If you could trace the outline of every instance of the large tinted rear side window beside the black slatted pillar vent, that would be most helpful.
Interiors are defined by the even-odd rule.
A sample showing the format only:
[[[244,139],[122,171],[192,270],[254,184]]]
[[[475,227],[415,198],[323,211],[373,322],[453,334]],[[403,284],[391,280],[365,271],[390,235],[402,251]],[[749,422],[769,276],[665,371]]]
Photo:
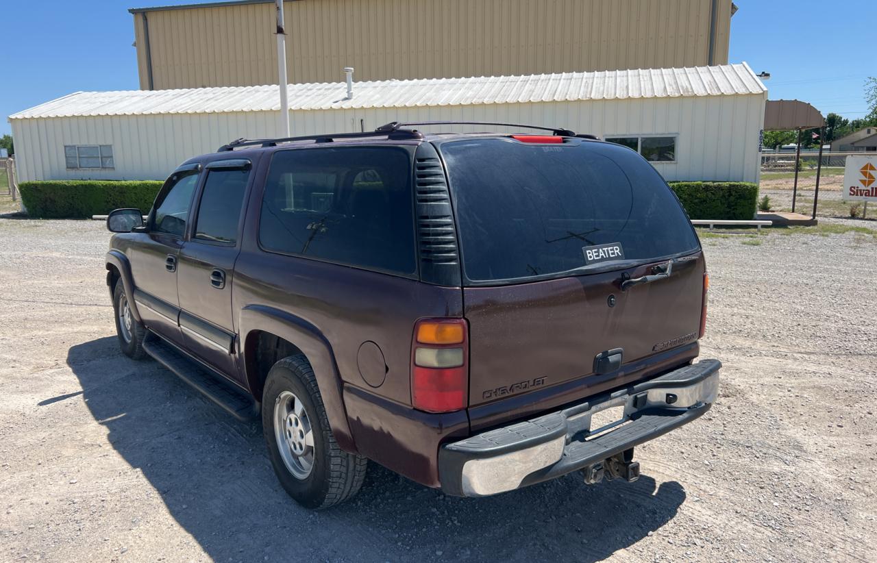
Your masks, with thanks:
[[[262,201],[266,250],[413,274],[410,155],[394,147],[278,151]]]

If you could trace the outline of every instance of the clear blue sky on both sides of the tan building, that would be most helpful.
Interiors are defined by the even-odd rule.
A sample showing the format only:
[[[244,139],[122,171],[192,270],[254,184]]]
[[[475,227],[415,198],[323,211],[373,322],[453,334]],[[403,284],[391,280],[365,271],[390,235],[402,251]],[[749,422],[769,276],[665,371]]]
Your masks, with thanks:
[[[610,0],[604,0],[610,1]],[[861,118],[863,83],[877,75],[877,0],[736,0],[731,62],[771,73],[771,99]],[[0,135],[5,117],[77,90],[137,89],[132,15],[189,0],[14,0],[0,19]]]

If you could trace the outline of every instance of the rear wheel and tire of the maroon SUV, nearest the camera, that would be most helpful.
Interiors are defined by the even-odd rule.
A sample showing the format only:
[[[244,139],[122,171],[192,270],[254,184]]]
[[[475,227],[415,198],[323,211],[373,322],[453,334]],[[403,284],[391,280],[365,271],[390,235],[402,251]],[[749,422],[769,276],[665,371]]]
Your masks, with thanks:
[[[327,509],[359,492],[367,460],[339,448],[303,355],[284,358],[268,372],[262,429],[277,479],[303,507]]]

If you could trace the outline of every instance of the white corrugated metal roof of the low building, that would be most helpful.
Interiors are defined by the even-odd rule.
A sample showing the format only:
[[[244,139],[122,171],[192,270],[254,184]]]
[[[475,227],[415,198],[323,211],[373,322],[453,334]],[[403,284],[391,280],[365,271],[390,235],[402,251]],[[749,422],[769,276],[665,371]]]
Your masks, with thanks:
[[[412,108],[487,103],[539,103],[655,97],[762,94],[764,84],[745,63],[721,67],[610,70],[527,76],[481,76],[290,84],[290,110]],[[171,113],[277,111],[277,87],[233,86],[174,90],[76,92],[10,119]]]

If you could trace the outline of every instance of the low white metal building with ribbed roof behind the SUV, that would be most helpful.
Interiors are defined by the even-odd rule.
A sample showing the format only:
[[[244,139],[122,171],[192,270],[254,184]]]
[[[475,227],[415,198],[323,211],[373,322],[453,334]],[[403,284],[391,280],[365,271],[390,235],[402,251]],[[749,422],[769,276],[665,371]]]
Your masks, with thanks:
[[[356,82],[352,99],[344,82],[289,85],[296,135],[390,121],[563,126],[631,146],[667,180],[746,182],[759,180],[766,97],[745,63]],[[278,136],[279,110],[276,86],[77,92],[10,123],[22,181],[144,180],[232,139]]]

